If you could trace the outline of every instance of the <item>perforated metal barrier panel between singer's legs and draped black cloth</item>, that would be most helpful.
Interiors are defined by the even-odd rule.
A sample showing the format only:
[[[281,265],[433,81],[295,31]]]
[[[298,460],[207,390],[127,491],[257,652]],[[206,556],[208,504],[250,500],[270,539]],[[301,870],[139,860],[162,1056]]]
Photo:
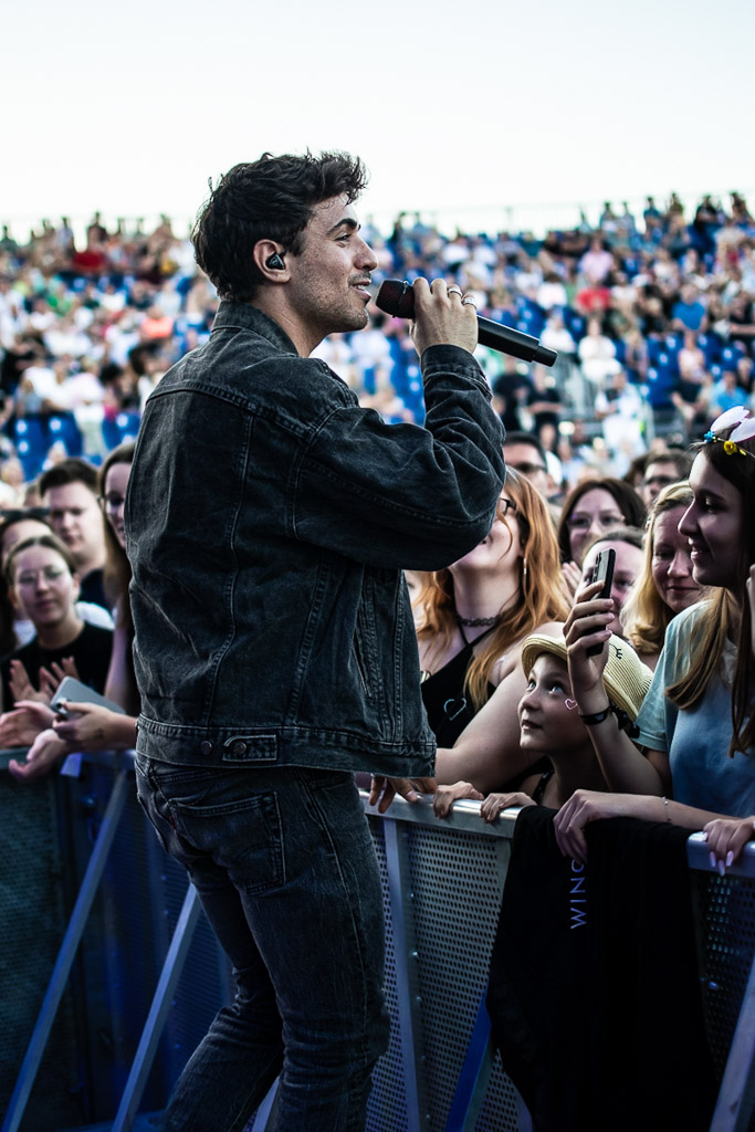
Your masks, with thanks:
[[[429,818],[427,806],[420,804]],[[419,817],[419,814],[414,815]],[[370,816],[386,903],[386,994],[394,1026],[391,1047],[374,1074],[368,1130],[403,1132],[410,1127],[400,1018],[396,950],[409,966],[409,1007],[414,1041],[421,1049],[421,1126],[443,1130],[464,1065],[472,1028],[486,993],[488,963],[508,864],[509,842],[458,827],[400,824],[397,852],[405,858],[401,877],[403,933],[396,937],[386,861],[386,821]],[[471,823],[470,823],[471,824]],[[497,1064],[479,1120],[479,1132],[518,1129],[516,1097]]]

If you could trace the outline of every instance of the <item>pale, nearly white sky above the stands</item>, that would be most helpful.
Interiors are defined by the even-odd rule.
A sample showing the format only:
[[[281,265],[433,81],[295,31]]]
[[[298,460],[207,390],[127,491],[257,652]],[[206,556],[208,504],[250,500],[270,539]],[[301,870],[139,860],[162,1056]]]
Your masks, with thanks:
[[[506,207],[674,188],[755,206],[752,0],[11,8],[0,220],[17,234],[95,208],[182,230],[209,177],[307,147],[362,156],[359,208],[381,225],[403,208],[504,226]]]

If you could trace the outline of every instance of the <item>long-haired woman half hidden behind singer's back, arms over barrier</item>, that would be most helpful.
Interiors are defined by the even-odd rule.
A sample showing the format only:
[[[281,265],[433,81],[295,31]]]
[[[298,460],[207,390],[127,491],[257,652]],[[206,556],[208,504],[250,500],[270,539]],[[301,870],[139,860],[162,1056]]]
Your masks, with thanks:
[[[109,711],[98,704],[68,702],[67,718],[54,718],[49,710],[29,701],[18,703],[17,715],[24,724],[35,721],[37,735],[24,763],[12,761],[9,770],[16,778],[37,778],[45,774],[63,755],[71,751],[127,749],[136,744],[138,692],[131,661],[134,623],[128,599],[131,569],[126,557],[123,504],[126,488],[134,461],[134,444],[114,448],[102,465],[100,503],[105,516],[104,584],[113,607],[115,632],[112,655],[106,668],[104,694],[127,712]],[[79,668],[79,676],[86,679]],[[96,687],[96,685],[92,685]],[[102,686],[97,691],[103,691]]]

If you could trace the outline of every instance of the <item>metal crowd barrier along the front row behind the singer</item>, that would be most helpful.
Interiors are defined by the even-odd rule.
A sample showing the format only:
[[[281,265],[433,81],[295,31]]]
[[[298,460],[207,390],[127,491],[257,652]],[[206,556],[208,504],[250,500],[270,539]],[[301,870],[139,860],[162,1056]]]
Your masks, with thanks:
[[[51,839],[40,840],[50,814],[57,815],[52,824],[58,822],[61,835],[70,837],[71,825],[75,830],[83,823],[87,846],[74,844],[53,868],[65,876],[68,867],[76,873],[80,866],[81,878],[72,885],[77,891],[49,981],[50,968],[42,971],[44,993],[27,1004],[23,1045],[17,1036],[24,1026],[11,1019],[18,1048],[6,1050],[0,1062],[3,1103],[8,1061],[15,1079],[2,1132],[71,1132],[87,1122],[103,1132],[152,1127],[151,1120],[138,1114],[145,1106],[164,1106],[209,1019],[229,997],[225,958],[182,869],[165,857],[141,815],[132,753],[87,757],[81,778],[66,782],[55,779],[32,787],[7,780],[0,773],[6,812],[8,791],[14,791],[17,807],[37,807],[22,814],[24,827],[31,825],[35,833],[31,843],[37,846],[37,856],[40,844],[52,844]],[[43,805],[42,796],[51,794],[58,796],[54,804]],[[369,811],[366,796],[364,805],[383,882],[386,997],[393,1021],[389,1048],[374,1074],[367,1130],[525,1132],[529,1114],[492,1055],[484,1009],[516,811],[505,812],[489,826],[480,821],[475,803],[457,803],[454,816],[443,822],[427,799],[414,805],[398,800],[383,816]],[[17,872],[17,840],[11,834],[5,843],[0,835],[6,871],[0,874],[0,900],[6,903],[6,874]],[[711,1132],[739,1132],[748,1127],[755,1089],[755,847],[726,877],[710,868],[700,835],[689,839],[688,859],[700,909],[709,1032],[723,1074]],[[51,884],[57,890],[60,878],[53,876]],[[33,904],[32,894],[27,900]],[[15,911],[19,923],[18,902]],[[34,967],[38,957],[31,952],[28,958]],[[81,1003],[84,1018],[77,1015]],[[36,1022],[29,1021],[34,1012]],[[58,1107],[49,1091],[61,1061],[60,1048],[50,1048],[60,1039],[55,1027],[61,1014],[74,1017],[63,1048],[70,1053],[71,1035],[84,1046],[71,1066],[74,1078],[80,1074],[78,1121],[63,1115],[65,1106]],[[5,1022],[0,1015],[0,1024]],[[76,1092],[70,1077],[67,1088],[69,1095]],[[42,1105],[35,1114],[40,1091]],[[267,1132],[274,1108],[275,1087],[248,1132]],[[55,1112],[60,1116],[53,1124]]]

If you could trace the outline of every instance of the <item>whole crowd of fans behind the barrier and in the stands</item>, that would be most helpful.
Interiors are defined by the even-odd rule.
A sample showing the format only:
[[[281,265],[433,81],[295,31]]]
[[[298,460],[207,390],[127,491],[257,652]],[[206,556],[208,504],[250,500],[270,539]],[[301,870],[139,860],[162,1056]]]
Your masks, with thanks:
[[[437,812],[457,798],[480,799],[484,821],[505,806],[551,806],[574,860],[586,855],[585,824],[603,816],[705,827],[724,869],[755,809],[745,200],[732,194],[724,209],[704,197],[694,216],[676,195],[663,208],[649,197],[641,217],[607,204],[595,230],[542,239],[447,238],[403,214],[389,234],[368,223],[364,235],[376,284],[453,278],[481,314],[559,353],[549,371],[480,351],[507,428],[499,513],[464,559],[407,575],[439,744]],[[0,744],[29,746],[11,763],[19,779],[76,749],[135,741],[132,440],[144,401],[206,341],[216,308],[190,240],[165,217],[145,233],[108,231],[95,215],[84,248],[66,220],[26,245],[3,230]],[[404,320],[374,308],[367,331],[317,353],[386,421],[421,421]],[[685,449],[704,435],[693,465]],[[606,550],[615,572],[601,600],[591,580]],[[54,713],[65,676],[112,704]]]

